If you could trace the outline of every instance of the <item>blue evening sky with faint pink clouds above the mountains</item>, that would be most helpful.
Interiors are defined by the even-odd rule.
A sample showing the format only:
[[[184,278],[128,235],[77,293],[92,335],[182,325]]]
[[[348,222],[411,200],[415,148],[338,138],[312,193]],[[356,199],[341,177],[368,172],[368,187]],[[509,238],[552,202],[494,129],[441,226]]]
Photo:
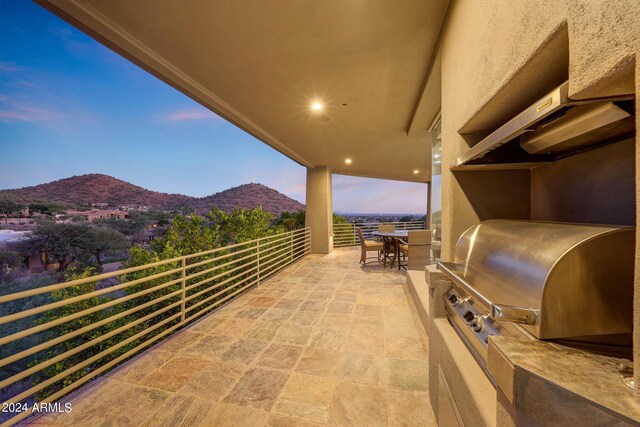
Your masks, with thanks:
[[[202,197],[260,182],[304,203],[306,170],[24,0],[0,1],[0,189],[104,173]],[[426,210],[426,186],[334,175],[341,212]]]

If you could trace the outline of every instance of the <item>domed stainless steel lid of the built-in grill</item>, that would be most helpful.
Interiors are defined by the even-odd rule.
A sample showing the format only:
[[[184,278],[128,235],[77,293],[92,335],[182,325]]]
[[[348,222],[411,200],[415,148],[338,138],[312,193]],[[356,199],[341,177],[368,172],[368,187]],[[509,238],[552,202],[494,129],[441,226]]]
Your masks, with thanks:
[[[444,269],[493,317],[503,305],[534,310],[523,326],[540,339],[626,334],[634,242],[633,227],[489,220],[462,234],[455,268]]]

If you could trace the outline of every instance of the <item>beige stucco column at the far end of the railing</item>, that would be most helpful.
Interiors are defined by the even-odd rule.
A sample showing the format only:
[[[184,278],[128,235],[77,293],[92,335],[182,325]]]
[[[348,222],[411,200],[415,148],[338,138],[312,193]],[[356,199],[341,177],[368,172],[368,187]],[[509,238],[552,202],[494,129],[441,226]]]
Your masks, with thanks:
[[[311,227],[311,252],[328,254],[333,250],[333,205],[331,169],[307,168],[306,226]]]

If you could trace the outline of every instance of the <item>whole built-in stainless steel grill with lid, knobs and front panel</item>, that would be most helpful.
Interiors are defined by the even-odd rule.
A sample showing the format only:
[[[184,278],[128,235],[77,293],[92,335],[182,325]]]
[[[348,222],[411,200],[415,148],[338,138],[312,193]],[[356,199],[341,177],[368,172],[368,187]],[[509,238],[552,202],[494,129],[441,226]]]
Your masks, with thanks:
[[[447,317],[486,371],[489,336],[631,352],[635,228],[489,220],[465,231]]]

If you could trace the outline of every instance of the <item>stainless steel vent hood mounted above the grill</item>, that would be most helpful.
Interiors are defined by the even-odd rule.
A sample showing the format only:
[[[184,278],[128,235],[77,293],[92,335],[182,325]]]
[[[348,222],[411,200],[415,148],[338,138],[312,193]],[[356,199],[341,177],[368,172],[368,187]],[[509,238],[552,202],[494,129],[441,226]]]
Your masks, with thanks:
[[[522,169],[631,137],[633,96],[572,101],[565,82],[460,156],[452,170]]]

